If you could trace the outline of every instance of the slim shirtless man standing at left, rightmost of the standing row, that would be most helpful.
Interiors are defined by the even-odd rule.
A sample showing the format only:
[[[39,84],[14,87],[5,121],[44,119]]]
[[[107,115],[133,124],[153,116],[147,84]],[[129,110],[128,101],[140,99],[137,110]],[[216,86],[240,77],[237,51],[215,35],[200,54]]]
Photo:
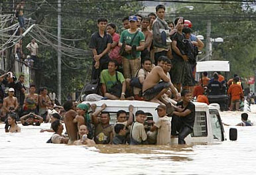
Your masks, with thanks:
[[[47,115],[48,107],[51,105],[50,97],[47,95],[48,91],[46,87],[42,87],[40,90],[40,95],[38,96],[38,106],[39,111],[38,115],[44,118],[44,121],[47,123],[49,121],[49,117]]]

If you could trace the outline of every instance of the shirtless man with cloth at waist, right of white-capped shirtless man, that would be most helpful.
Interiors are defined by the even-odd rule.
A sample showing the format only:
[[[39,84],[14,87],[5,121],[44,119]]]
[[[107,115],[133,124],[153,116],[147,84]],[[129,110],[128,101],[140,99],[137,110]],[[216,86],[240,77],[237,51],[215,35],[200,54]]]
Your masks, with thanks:
[[[31,85],[31,87],[29,87],[29,94],[26,95],[24,100],[23,115],[26,115],[31,112],[36,113],[36,106],[38,105],[38,95],[37,93],[35,93],[35,91],[36,91],[36,86]]]

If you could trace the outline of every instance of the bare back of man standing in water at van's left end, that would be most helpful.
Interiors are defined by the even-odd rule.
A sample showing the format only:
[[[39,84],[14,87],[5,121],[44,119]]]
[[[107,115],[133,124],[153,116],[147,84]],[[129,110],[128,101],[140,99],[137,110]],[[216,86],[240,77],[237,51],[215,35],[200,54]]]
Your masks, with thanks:
[[[73,109],[70,109],[68,112],[66,112],[64,116],[64,123],[66,127],[66,131],[68,133],[68,137],[70,140],[68,141],[68,144],[74,143],[78,139],[78,126],[76,123],[73,123],[74,118],[76,117],[77,113]]]

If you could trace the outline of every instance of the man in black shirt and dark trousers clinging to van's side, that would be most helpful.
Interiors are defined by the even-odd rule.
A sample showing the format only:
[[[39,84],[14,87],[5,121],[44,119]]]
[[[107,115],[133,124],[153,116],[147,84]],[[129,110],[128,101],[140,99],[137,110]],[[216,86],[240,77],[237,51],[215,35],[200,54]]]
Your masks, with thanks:
[[[196,113],[195,105],[191,102],[191,92],[182,90],[181,96],[182,101],[178,102],[177,106],[181,106],[182,110],[172,113],[171,135],[175,136],[178,131],[178,144],[186,144],[184,139],[193,132]]]

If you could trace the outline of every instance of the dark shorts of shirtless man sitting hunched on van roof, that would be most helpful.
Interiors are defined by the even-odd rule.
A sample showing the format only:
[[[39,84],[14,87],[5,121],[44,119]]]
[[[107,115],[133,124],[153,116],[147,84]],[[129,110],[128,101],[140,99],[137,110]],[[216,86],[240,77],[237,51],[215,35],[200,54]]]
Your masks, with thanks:
[[[143,92],[143,98],[146,100],[151,100],[155,96],[157,96],[162,89],[165,89],[167,87],[170,87],[170,82],[160,82],[159,84],[156,84],[154,87],[151,87],[150,89],[147,89]]]

